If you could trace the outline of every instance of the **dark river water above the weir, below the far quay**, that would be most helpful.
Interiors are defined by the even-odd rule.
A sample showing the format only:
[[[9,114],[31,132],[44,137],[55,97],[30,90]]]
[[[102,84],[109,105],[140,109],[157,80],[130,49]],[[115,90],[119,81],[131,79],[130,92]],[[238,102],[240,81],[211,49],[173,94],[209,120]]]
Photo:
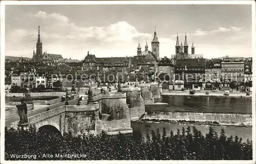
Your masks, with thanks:
[[[148,107],[148,111],[204,112],[251,114],[251,98],[168,96],[155,99],[155,102],[168,103],[159,109]]]

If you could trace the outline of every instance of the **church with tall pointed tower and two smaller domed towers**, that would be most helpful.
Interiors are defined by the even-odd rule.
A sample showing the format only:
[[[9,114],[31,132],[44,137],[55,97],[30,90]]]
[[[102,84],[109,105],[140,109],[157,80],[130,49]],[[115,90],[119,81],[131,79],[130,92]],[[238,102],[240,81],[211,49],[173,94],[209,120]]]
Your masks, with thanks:
[[[148,50],[148,45],[146,42],[145,45],[145,50],[142,52],[141,51],[141,46],[140,43],[137,48],[137,56],[141,56],[144,59],[150,60],[150,61],[158,61],[159,60],[159,41],[157,37],[157,32],[156,32],[156,27],[155,27],[155,32],[154,32],[154,38],[151,42],[151,51]]]

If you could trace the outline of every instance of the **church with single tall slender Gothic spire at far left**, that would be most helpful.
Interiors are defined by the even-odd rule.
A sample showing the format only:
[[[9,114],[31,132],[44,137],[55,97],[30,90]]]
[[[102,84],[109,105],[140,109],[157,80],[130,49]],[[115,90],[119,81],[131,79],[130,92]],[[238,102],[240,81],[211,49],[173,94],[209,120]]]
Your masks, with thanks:
[[[62,59],[62,56],[58,55],[58,54],[48,54],[47,52],[42,53],[42,42],[40,39],[40,26],[38,26],[36,52],[35,52],[35,50],[33,51],[33,58],[31,60],[31,62],[53,63],[53,62],[57,62],[58,59]]]

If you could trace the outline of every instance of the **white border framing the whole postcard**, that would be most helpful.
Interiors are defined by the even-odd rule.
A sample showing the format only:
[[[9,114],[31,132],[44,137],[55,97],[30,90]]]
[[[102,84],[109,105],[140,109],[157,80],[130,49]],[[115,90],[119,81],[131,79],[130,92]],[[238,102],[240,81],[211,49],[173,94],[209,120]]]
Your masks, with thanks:
[[[221,160],[200,160],[200,161],[193,161],[193,160],[187,160],[187,161],[121,161],[124,163],[131,163],[131,162],[144,162],[144,163],[154,163],[155,162],[164,162],[164,163],[256,163],[256,147],[255,147],[255,104],[256,104],[256,21],[255,21],[255,2],[254,1],[2,1],[1,2],[1,9],[0,9],[0,16],[1,16],[1,64],[0,64],[0,72],[2,80],[0,82],[1,84],[1,109],[5,109],[5,84],[4,84],[4,77],[5,77],[5,5],[128,5],[128,4],[151,4],[151,5],[185,5],[185,4],[237,4],[237,5],[251,5],[252,6],[252,61],[253,61],[253,87],[252,87],[252,143],[253,143],[253,160],[247,160],[247,161],[237,161],[237,160],[228,160],[228,161],[221,161]],[[4,125],[5,125],[5,110],[1,110],[1,160],[0,163],[33,163],[35,161],[4,161]],[[44,161],[36,161],[38,163],[44,162]],[[47,162],[47,161],[45,161]],[[70,162],[70,161],[48,161],[51,163],[58,163],[58,162]],[[73,161],[74,162],[74,161]],[[76,163],[95,163],[95,162],[111,162],[111,163],[119,163],[120,161],[75,161]]]

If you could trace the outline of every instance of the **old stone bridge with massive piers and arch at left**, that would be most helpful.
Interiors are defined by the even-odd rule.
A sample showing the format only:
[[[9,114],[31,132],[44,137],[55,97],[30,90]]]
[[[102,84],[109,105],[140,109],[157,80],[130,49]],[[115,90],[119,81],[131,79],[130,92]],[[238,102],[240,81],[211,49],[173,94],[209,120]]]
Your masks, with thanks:
[[[61,134],[71,131],[77,135],[90,130],[109,134],[132,133],[131,121],[138,120],[145,113],[145,104],[160,98],[157,84],[140,84],[135,88],[122,88],[123,93],[94,95],[94,104],[87,105],[88,96],[81,105],[64,105],[28,118],[37,129],[55,127]],[[97,91],[98,92],[98,91]],[[11,123],[17,128],[18,121]]]

